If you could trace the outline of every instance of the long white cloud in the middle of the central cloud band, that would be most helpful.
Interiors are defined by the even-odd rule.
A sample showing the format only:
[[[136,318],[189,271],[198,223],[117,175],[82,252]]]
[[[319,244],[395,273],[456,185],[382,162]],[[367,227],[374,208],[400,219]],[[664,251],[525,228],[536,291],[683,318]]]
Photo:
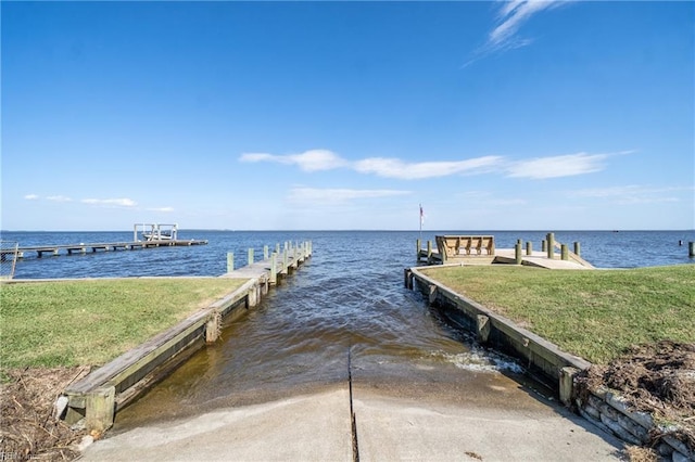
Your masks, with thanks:
[[[458,174],[481,174],[490,171],[501,162],[502,157],[498,156],[483,156],[456,162],[418,163],[405,163],[397,158],[372,157],[356,162],[354,169],[362,174],[375,174],[384,178],[420,180]]]

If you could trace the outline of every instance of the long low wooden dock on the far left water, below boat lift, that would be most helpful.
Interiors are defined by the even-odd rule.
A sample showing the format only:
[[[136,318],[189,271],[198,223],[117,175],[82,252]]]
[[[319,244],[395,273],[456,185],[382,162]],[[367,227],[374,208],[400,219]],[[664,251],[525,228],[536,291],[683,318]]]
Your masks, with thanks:
[[[115,251],[136,251],[141,248],[155,248],[155,247],[172,247],[172,246],[190,246],[190,245],[204,245],[207,241],[199,240],[159,240],[159,241],[132,241],[132,242],[109,242],[109,243],[91,243],[91,244],[55,244],[55,245],[37,245],[28,247],[18,247],[16,251],[17,258],[24,258],[28,254],[36,253],[37,258],[42,258],[43,255],[59,256],[59,255],[74,255],[74,254],[87,254],[97,252],[115,252]],[[14,249],[0,251],[0,257],[4,261],[8,258],[12,258]]]

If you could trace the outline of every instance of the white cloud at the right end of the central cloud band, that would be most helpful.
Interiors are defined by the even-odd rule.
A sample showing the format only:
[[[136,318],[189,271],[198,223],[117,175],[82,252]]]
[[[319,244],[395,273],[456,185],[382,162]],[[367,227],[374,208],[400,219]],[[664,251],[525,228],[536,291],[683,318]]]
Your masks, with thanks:
[[[592,174],[604,169],[608,155],[578,153],[519,161],[507,166],[507,176],[541,180]]]

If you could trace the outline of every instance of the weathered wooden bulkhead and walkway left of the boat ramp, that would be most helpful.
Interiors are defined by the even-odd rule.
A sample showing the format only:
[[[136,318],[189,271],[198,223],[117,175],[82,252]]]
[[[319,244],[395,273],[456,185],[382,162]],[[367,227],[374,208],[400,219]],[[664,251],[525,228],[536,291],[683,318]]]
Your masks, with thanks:
[[[71,384],[56,401],[56,414],[68,424],[83,424],[89,431],[104,432],[113,425],[115,413],[180,365],[205,343],[215,342],[223,319],[230,322],[256,306],[270,283],[311,257],[311,242],[286,244],[283,265],[270,259],[253,262],[223,278],[247,279],[239,288],[190,316],[179,324],[125,352],[86,377]],[[273,255],[271,259],[277,258]]]

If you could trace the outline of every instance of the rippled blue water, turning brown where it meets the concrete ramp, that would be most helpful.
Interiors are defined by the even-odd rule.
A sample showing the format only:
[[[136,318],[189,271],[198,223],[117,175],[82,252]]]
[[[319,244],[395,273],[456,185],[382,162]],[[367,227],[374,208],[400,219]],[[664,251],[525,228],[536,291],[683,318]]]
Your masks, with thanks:
[[[438,234],[440,232],[437,232]],[[450,234],[471,234],[447,231]],[[517,239],[540,249],[544,232],[475,232],[495,235],[498,248]],[[422,232],[422,241],[434,239]],[[313,242],[311,259],[287,283],[269,292],[257,309],[227,325],[222,339],[206,346],[144,399],[119,413],[121,428],[149,420],[200,412],[222,405],[282,396],[290,388],[331,384],[353,376],[402,382],[450,381],[469,387],[523,382],[521,368],[477,347],[452,329],[421,297],[403,287],[403,269],[415,265],[418,232],[224,232],[180,231],[180,239],[208,240],[192,247],[162,247],[75,256],[29,257],[15,278],[130,275],[219,275],[226,255],[245,265],[248,248],[285,241]],[[129,241],[129,232],[2,233],[23,246]],[[601,268],[693,264],[687,242],[695,233],[556,232],[556,240],[581,242],[582,256]],[[683,241],[683,245],[679,245]],[[422,378],[422,373],[431,374]],[[508,380],[508,378],[507,378]],[[467,382],[468,381],[468,382]],[[496,385],[495,385],[496,384]],[[532,386],[532,385],[530,385]],[[125,428],[124,428],[125,429]]]

